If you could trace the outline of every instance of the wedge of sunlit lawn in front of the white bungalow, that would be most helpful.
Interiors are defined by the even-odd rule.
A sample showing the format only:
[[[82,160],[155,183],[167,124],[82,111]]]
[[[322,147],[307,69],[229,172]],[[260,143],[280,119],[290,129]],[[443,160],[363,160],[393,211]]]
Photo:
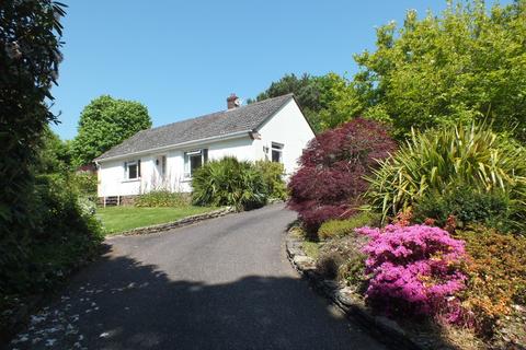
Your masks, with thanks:
[[[168,208],[106,207],[98,208],[96,215],[104,225],[104,232],[115,234],[136,228],[176,221],[215,209],[217,208],[193,206]]]

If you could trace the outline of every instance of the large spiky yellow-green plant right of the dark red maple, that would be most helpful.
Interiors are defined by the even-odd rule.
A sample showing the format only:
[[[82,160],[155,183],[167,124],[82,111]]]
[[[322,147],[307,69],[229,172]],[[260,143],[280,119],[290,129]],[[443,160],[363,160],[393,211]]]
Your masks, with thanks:
[[[439,196],[459,186],[501,192],[516,209],[517,223],[526,217],[525,149],[487,125],[413,130],[407,144],[380,161],[368,180],[367,196],[384,219],[424,196]]]

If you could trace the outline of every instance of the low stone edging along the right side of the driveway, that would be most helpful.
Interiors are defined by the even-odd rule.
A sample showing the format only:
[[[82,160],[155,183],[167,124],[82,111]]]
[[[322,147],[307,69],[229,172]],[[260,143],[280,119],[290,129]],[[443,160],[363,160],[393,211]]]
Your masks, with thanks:
[[[345,315],[362,325],[381,342],[393,349],[424,350],[426,340],[413,339],[395,320],[374,315],[352,289],[342,287],[334,280],[327,280],[316,271],[315,259],[301,248],[301,241],[290,233],[286,236],[287,257],[294,268],[324,296],[339,306]],[[422,343],[424,342],[424,343]]]

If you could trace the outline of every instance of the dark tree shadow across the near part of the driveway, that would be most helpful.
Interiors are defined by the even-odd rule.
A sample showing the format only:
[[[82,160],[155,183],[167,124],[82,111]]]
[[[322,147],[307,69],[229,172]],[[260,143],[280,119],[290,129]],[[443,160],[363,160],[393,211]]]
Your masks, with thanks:
[[[105,255],[32,316],[10,349],[381,349],[305,281],[247,276],[171,280],[156,266]]]

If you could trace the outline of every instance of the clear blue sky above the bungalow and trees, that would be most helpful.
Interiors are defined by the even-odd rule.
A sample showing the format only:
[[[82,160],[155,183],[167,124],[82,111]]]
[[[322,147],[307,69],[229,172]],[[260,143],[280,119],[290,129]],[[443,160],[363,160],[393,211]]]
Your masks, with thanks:
[[[139,101],[153,126],[254,97],[285,73],[352,75],[375,27],[445,0],[65,1],[65,59],[53,110],[62,139],[101,94]],[[508,1],[501,1],[508,2]]]

